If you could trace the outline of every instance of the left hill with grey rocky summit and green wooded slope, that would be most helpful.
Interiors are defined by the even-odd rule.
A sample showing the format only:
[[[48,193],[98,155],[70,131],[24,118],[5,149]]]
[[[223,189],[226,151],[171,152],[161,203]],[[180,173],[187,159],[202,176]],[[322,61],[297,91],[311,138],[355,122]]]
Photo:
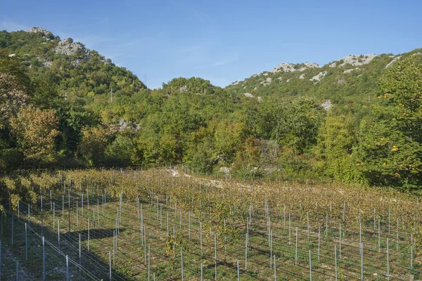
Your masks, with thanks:
[[[53,81],[54,91],[69,100],[92,102],[115,96],[132,96],[146,86],[129,70],[91,51],[72,38],[60,37],[42,27],[27,31],[0,32],[0,48],[10,58],[17,58],[35,82],[46,77]],[[102,98],[100,98],[102,97]]]

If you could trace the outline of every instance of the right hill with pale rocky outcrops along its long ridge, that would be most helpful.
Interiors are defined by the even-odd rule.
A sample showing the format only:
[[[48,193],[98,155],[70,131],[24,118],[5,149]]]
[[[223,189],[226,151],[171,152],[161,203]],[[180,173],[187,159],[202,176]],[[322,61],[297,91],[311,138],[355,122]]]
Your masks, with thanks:
[[[347,55],[326,65],[281,63],[226,86],[226,91],[246,97],[312,96],[337,105],[368,105],[376,98],[378,78],[397,61],[421,53],[416,49],[400,55]]]

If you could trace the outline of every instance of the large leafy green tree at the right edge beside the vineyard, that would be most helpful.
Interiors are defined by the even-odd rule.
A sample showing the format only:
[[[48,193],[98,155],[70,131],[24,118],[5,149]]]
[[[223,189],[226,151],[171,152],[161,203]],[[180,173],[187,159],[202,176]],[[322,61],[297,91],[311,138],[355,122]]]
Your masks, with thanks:
[[[379,87],[381,105],[360,126],[358,165],[373,185],[416,188],[422,183],[421,57],[401,60]]]

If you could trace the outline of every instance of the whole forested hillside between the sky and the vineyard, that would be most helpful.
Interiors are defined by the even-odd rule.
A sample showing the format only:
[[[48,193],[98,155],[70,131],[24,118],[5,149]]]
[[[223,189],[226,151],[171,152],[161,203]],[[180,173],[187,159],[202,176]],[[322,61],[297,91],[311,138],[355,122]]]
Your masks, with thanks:
[[[226,89],[180,77],[151,90],[72,39],[3,31],[0,169],[182,164],[417,190],[419,51],[287,65]]]

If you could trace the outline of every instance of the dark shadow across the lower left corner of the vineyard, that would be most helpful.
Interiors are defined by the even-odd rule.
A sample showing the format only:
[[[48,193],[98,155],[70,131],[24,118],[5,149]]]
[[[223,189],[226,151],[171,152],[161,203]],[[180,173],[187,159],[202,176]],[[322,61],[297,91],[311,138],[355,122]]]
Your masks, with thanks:
[[[19,262],[19,280],[42,280],[42,240],[41,225],[30,222],[27,228],[27,256],[25,259],[25,222],[27,220],[15,216],[13,219],[13,244],[12,244],[12,217],[7,211],[3,212],[1,240],[1,280],[15,280],[15,263]],[[63,228],[67,230],[68,228]],[[113,230],[110,228],[96,228],[89,230],[89,240],[99,241],[103,247],[104,254],[108,261],[108,251],[113,244],[106,245],[101,242],[104,238],[113,237]],[[124,232],[121,228],[119,233]],[[79,234],[81,237],[81,265],[79,269]],[[60,251],[58,251],[58,233],[51,226],[44,225],[44,239],[46,241],[46,280],[65,280],[66,263],[65,256],[68,255],[69,273],[72,280],[108,280],[109,264],[104,262],[100,256],[93,251],[87,250],[88,230],[75,230],[70,233],[60,233]],[[94,241],[93,241],[94,242]],[[63,253],[63,254],[60,254]],[[117,270],[112,269],[113,280],[130,280]],[[27,276],[27,277],[25,277]]]

